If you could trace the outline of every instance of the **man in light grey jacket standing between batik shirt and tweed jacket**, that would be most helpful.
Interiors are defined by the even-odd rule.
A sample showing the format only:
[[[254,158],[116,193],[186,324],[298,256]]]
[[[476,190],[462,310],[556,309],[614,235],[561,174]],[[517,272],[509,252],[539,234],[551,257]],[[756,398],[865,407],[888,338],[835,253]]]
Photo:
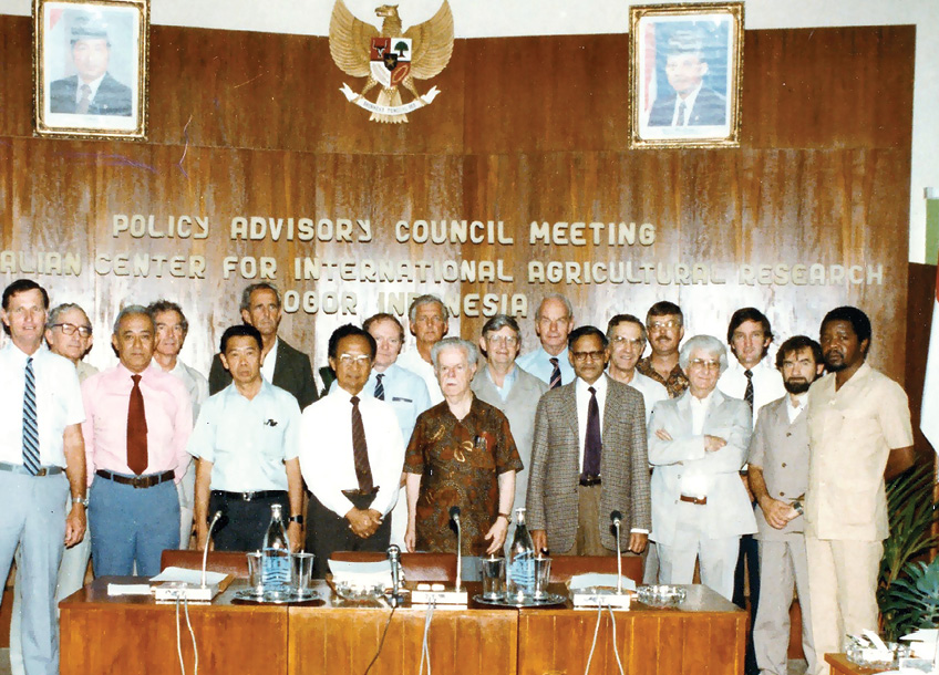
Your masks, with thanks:
[[[535,412],[548,385],[515,363],[522,350],[522,330],[512,316],[496,314],[483,326],[479,349],[486,363],[476,371],[470,388],[479,398],[497,407],[508,418],[518,456],[526,467],[532,464]],[[515,477],[515,508],[525,506],[527,480]],[[514,529],[513,529],[514,532]],[[512,532],[508,534],[512,541]]]

